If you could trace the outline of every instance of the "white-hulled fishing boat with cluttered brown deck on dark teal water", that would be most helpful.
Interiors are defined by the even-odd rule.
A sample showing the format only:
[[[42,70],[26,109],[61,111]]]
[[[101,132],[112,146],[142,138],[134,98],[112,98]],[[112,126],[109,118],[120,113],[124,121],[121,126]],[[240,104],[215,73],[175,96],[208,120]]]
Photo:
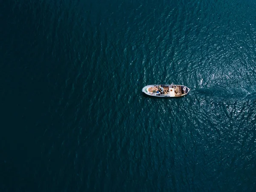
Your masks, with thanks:
[[[184,85],[162,84],[147,85],[143,87],[142,92],[156,97],[180,97],[189,93],[189,88]]]

